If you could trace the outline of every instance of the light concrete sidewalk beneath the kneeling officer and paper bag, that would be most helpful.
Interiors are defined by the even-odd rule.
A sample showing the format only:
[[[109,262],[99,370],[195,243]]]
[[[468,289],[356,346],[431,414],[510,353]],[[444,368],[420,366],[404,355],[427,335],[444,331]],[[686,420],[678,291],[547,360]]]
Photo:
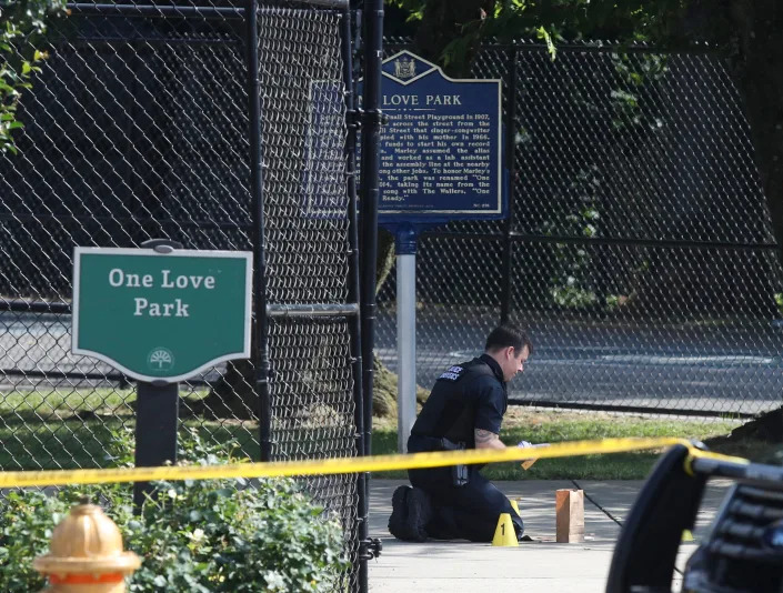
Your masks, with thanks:
[[[466,541],[401,542],[389,534],[391,495],[406,482],[372,480],[370,495],[370,534],[383,541],[383,552],[370,562],[370,591],[402,593],[408,591],[456,593],[489,591],[519,593],[600,593],[604,591],[614,542],[620,526],[606,513],[622,522],[632,506],[641,481],[584,481],[584,532],[582,544],[554,542],[554,492],[572,489],[570,481],[496,482],[503,492],[520,500],[525,532],[535,541],[519,547],[493,547]],[[695,542],[680,547],[677,566],[704,537],[731,481],[712,481],[707,486],[694,530]],[[602,511],[588,500],[602,506]],[[679,582],[674,583],[679,590]]]

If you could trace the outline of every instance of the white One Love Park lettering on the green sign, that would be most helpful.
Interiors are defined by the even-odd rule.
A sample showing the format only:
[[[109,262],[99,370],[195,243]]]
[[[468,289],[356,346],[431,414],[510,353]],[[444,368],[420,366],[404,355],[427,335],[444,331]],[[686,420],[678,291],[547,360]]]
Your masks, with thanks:
[[[121,268],[112,268],[109,271],[109,285],[112,288],[161,288],[171,290],[213,290],[215,280],[213,275],[185,275],[179,274],[172,277],[171,270],[161,270],[155,284],[153,274],[137,274],[129,273]],[[134,316],[151,316],[151,318],[187,318],[190,316],[188,308],[182,299],[174,298],[169,302],[150,302],[143,296],[133,299],[133,315]]]

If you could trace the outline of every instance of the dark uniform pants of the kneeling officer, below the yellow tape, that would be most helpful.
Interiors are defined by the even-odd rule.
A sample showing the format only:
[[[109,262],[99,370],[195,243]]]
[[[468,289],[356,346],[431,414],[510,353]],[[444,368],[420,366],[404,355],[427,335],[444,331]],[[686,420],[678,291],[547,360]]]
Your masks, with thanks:
[[[469,465],[470,479],[463,486],[452,484],[451,468],[409,470],[408,475],[413,486],[430,495],[432,521],[425,530],[431,537],[491,542],[501,513],[511,515],[518,536],[523,533],[522,519],[509,499],[475,465]]]

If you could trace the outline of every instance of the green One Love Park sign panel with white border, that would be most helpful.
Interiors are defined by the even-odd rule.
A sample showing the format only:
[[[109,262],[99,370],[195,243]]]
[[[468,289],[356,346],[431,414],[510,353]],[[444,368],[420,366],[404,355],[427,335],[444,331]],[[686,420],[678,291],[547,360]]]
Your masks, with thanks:
[[[71,351],[169,383],[250,358],[251,274],[250,252],[78,247]]]

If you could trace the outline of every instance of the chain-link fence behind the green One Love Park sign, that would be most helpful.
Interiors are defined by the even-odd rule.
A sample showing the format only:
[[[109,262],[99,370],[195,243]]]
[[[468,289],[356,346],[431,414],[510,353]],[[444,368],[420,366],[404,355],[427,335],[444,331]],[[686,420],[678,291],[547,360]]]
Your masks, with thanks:
[[[70,353],[72,252],[148,239],[264,257],[268,393],[263,361],[211,369],[180,384],[180,430],[252,460],[357,454],[351,27],[320,4],[78,3],[52,22],[19,153],[0,157],[1,469],[100,468],[133,429],[133,385]],[[334,587],[355,590],[357,476],[303,483],[341,519],[353,569]]]

